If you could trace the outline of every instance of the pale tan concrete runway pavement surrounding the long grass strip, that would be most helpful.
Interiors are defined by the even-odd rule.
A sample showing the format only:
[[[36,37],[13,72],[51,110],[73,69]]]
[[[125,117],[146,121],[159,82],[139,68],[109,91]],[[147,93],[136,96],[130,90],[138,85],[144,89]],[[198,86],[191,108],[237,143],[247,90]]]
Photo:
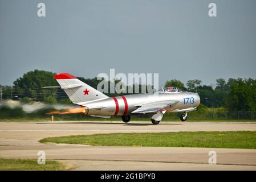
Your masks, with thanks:
[[[244,122],[0,122],[0,158],[47,159],[73,164],[75,170],[256,170],[256,150],[181,147],[108,147],[42,144],[38,140],[79,134],[177,131],[255,131]],[[208,164],[209,151],[217,164]]]

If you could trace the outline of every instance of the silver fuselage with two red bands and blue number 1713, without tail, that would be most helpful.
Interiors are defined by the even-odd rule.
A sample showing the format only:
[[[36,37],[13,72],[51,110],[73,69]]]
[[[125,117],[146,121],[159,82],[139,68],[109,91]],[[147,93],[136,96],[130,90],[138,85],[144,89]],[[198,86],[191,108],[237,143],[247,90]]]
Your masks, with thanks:
[[[86,114],[88,115],[131,115],[132,111],[138,108],[138,105],[168,100],[177,102],[166,107],[164,109],[166,112],[192,111],[200,104],[200,97],[197,93],[156,92],[108,97],[96,101],[83,102],[80,105],[86,106]]]

